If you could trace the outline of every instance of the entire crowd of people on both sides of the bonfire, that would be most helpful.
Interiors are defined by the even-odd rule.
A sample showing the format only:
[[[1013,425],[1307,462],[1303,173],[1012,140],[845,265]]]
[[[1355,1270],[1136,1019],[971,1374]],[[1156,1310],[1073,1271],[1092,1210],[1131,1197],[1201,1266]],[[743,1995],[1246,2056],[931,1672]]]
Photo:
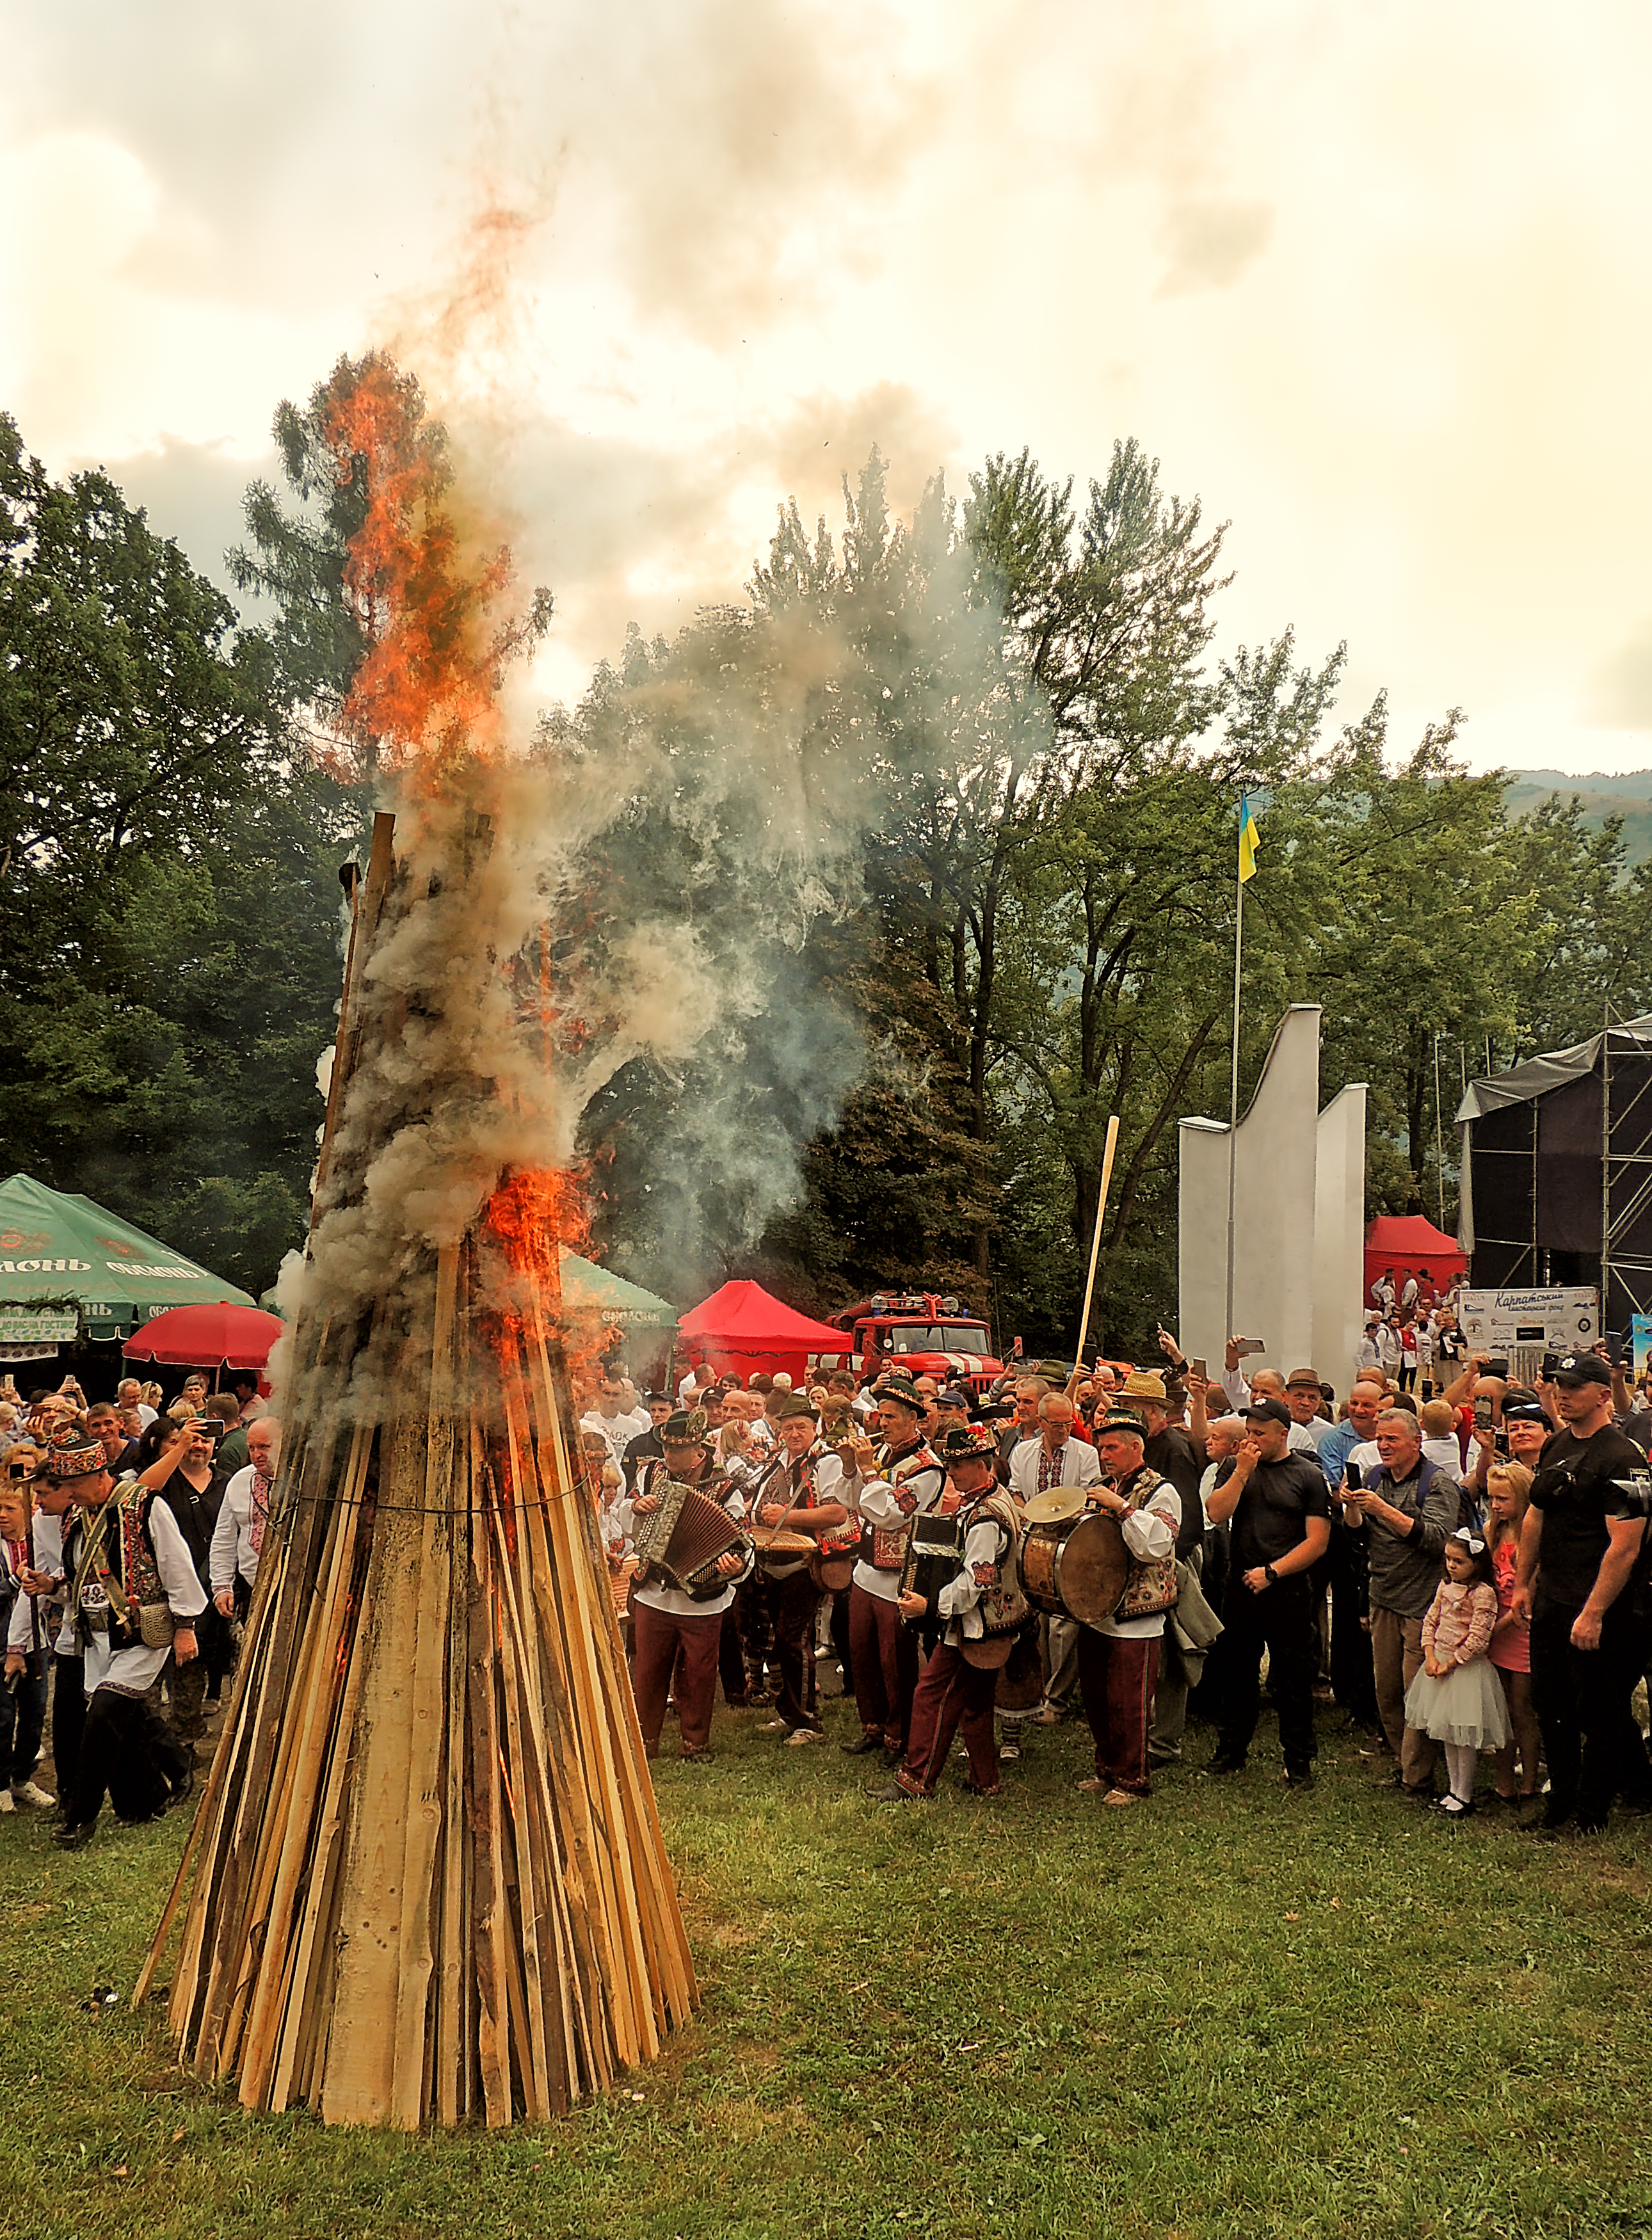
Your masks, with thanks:
[[[1338,1396],[1237,1337],[1217,1375],[1159,1344],[1157,1369],[986,1389],[601,1375],[578,1452],[648,1754],[675,1716],[704,1763],[720,1689],[818,1747],[827,1673],[879,1801],[932,1799],[959,1734],[991,1799],[1038,1729],[1083,1723],[1078,1785],[1139,1805],[1190,1723],[1197,1770],[1242,1774],[1266,1682],[1287,1790],[1311,1788],[1334,1705],[1376,1779],[1446,1821],[1502,1808],[1553,1835],[1652,1808],[1652,1398],[1605,1348],[1529,1387],[1475,1353],[1432,1348],[1410,1384],[1363,1360]],[[278,1467],[251,1375],[170,1407],[137,1382],[94,1404],[72,1378],[0,1389],[0,1812],[56,1808],[74,1848],[105,1801],[143,1821],[191,1796]]]

